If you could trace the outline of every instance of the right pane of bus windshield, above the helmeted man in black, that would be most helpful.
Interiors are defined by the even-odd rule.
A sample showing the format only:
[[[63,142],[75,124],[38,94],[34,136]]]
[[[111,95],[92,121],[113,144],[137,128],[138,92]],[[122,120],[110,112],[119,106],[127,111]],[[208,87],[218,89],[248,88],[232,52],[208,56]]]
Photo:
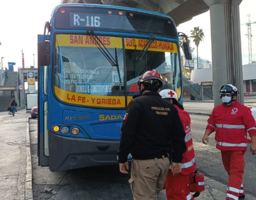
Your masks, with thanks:
[[[146,71],[156,69],[163,78],[163,88],[176,91],[181,96],[180,60],[177,44],[166,41],[153,41],[148,51],[138,58],[145,47],[146,39],[125,38],[125,66],[127,79],[127,94],[138,94],[138,79]]]

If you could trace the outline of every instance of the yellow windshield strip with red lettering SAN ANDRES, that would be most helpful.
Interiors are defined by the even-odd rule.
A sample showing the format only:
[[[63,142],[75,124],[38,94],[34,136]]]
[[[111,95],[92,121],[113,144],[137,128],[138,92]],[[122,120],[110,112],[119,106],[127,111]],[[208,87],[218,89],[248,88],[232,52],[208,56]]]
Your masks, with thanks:
[[[120,37],[98,36],[98,38],[107,48],[122,48],[122,39]],[[97,47],[98,45],[96,44],[91,36],[73,34],[58,34],[56,36],[56,46]]]

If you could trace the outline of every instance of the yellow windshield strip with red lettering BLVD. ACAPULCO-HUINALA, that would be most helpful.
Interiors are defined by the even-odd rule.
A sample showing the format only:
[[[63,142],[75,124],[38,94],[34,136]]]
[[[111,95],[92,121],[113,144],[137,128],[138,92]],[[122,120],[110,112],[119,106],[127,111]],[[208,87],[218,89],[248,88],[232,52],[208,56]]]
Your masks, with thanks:
[[[125,38],[125,49],[142,50],[148,39]],[[173,42],[153,41],[148,51],[178,53],[177,44]]]

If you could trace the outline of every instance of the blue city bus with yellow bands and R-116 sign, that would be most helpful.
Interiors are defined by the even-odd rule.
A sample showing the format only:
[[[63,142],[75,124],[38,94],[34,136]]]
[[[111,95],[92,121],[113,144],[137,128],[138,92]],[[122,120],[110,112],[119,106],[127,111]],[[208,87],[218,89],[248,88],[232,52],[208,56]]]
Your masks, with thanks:
[[[146,71],[182,102],[177,28],[156,12],[56,6],[38,35],[38,69],[38,163],[51,171],[118,163],[123,116]]]

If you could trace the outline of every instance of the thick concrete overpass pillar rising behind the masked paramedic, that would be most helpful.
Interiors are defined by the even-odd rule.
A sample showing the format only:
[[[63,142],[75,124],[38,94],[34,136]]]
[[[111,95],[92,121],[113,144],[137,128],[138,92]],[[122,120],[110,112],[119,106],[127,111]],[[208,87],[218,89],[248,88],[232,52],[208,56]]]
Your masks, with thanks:
[[[221,103],[220,87],[233,84],[243,104],[243,71],[239,5],[242,0],[203,0],[210,7],[212,34],[213,99]]]

